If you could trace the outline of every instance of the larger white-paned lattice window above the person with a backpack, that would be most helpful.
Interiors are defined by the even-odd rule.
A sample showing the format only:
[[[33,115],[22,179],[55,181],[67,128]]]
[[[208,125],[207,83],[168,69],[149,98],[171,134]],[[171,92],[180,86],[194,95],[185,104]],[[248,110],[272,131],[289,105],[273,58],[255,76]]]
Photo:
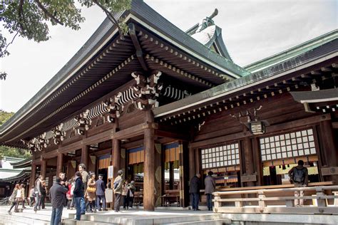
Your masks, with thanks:
[[[262,161],[316,154],[313,130],[260,138]]]

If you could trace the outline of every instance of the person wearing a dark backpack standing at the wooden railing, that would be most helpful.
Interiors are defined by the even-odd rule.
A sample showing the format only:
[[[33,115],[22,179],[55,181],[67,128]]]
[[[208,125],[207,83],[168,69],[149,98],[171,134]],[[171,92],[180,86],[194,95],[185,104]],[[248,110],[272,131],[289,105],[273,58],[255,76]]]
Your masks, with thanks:
[[[307,168],[304,167],[303,160],[298,161],[297,167],[292,167],[289,171],[290,182],[295,184],[295,187],[307,187]],[[295,191],[295,197],[303,197],[304,191]],[[295,199],[295,206],[303,206],[304,199]]]

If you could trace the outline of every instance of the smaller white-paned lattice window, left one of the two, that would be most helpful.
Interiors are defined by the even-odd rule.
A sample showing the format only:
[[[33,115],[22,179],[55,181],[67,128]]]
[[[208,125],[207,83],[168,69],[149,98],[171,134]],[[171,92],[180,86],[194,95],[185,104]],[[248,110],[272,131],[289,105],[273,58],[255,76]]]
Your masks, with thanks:
[[[238,143],[201,150],[202,168],[228,167],[240,164]]]

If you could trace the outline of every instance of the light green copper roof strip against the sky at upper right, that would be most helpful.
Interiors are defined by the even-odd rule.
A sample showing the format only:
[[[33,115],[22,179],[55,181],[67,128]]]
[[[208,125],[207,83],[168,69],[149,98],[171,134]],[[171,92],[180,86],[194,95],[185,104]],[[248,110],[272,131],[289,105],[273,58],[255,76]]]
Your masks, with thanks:
[[[309,41],[299,44],[298,46],[289,48],[281,53],[277,53],[273,56],[263,58],[260,61],[255,63],[251,63],[244,68],[251,73],[255,73],[259,70],[265,69],[277,63],[281,63],[282,61],[286,61],[289,58],[298,56],[304,52],[310,51],[318,46],[322,46],[324,43],[328,43],[334,39],[338,38],[338,30],[331,31],[329,33],[325,33],[322,36],[318,36],[317,38],[313,38]]]

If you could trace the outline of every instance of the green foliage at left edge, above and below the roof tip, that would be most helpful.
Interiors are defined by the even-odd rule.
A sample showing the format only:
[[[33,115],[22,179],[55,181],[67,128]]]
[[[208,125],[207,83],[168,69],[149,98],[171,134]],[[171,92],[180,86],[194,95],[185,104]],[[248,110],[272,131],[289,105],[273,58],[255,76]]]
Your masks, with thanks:
[[[0,126],[3,125],[4,122],[9,120],[9,118],[12,115],[14,115],[14,112],[5,112],[3,110],[0,110]],[[0,159],[2,159],[2,157],[4,156],[27,159],[31,157],[31,154],[29,154],[27,150],[21,150],[14,147],[0,146]]]

